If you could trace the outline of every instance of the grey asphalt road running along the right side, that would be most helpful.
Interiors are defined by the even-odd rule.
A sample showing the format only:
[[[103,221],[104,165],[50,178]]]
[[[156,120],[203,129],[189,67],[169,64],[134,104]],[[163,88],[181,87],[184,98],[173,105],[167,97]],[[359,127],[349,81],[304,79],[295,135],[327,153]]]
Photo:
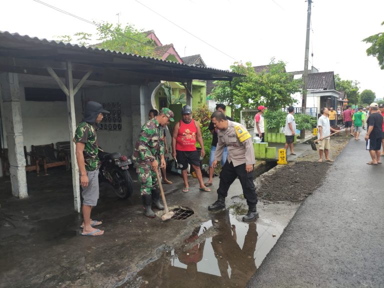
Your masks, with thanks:
[[[384,164],[352,137],[248,287],[383,287]]]

